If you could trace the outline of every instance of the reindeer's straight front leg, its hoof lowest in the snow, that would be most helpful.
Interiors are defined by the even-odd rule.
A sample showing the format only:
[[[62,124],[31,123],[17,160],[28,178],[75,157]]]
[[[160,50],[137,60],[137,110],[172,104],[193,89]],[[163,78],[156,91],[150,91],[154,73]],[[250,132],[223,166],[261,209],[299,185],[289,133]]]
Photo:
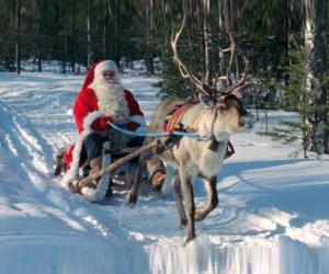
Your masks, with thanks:
[[[185,239],[185,243],[192,241],[195,238],[195,227],[194,227],[194,214],[195,214],[195,205],[194,205],[194,193],[192,186],[191,175],[188,173],[188,169],[185,167],[180,167],[180,178],[181,184],[183,189],[184,204],[185,204],[185,214],[188,217],[188,237]]]

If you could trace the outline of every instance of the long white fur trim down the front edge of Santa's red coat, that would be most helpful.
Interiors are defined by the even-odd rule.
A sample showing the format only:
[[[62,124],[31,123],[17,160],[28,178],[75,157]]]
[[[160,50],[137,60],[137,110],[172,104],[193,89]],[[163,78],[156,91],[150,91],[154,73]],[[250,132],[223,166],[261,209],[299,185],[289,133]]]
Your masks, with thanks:
[[[75,148],[72,151],[72,162],[70,164],[70,169],[65,173],[60,185],[65,189],[68,189],[70,182],[78,178],[79,173],[79,162],[80,162],[80,155],[83,146],[84,138],[93,132],[91,128],[91,124],[99,117],[104,116],[102,112],[94,111],[89,113],[83,119],[83,128],[84,130],[78,136],[78,139],[75,144]]]

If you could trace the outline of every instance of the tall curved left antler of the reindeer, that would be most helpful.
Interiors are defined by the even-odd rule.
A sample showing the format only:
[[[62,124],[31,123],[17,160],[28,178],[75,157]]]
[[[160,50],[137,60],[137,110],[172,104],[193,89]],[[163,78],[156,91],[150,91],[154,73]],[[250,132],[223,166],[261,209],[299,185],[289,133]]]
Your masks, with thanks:
[[[179,57],[178,55],[178,52],[177,52],[177,43],[181,36],[181,33],[183,32],[183,28],[185,26],[185,21],[186,21],[186,15],[184,14],[184,18],[183,18],[183,22],[182,22],[182,26],[181,28],[179,30],[179,32],[175,33],[175,35],[171,35],[171,47],[172,47],[172,52],[173,52],[173,60],[174,62],[178,65],[179,67],[179,70],[180,70],[180,73],[181,76],[184,78],[184,79],[191,79],[192,82],[194,82],[194,84],[197,87],[197,89],[206,94],[206,95],[211,95],[209,92],[206,90],[206,84],[204,81],[200,80],[196,76],[194,76],[192,73],[192,71],[190,71],[186,66],[182,62],[181,58]]]

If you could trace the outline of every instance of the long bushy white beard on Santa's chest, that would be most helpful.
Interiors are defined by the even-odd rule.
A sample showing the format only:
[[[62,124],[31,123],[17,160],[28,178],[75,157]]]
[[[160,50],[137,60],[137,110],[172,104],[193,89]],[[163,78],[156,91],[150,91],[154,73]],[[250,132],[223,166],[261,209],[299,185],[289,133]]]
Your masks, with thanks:
[[[99,111],[118,124],[126,124],[129,121],[129,109],[121,84],[95,81],[90,88],[98,98]]]

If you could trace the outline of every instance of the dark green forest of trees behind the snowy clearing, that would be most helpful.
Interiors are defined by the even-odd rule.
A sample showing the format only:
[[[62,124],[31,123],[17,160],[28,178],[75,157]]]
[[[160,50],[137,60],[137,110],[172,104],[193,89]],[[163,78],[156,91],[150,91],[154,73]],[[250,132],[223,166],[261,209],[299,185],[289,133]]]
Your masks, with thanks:
[[[194,75],[223,72],[237,45],[229,81],[248,60],[246,101],[256,109],[297,112],[299,122],[266,133],[302,139],[308,151],[329,153],[327,0],[0,0],[1,70],[21,73],[21,61],[58,60],[61,72],[80,73],[101,59],[145,60],[147,75],[161,64],[161,96],[195,89],[172,60],[171,38],[186,19],[178,49]],[[228,33],[231,35],[229,36]],[[205,75],[205,70],[207,75]],[[292,133],[302,133],[300,136]]]

